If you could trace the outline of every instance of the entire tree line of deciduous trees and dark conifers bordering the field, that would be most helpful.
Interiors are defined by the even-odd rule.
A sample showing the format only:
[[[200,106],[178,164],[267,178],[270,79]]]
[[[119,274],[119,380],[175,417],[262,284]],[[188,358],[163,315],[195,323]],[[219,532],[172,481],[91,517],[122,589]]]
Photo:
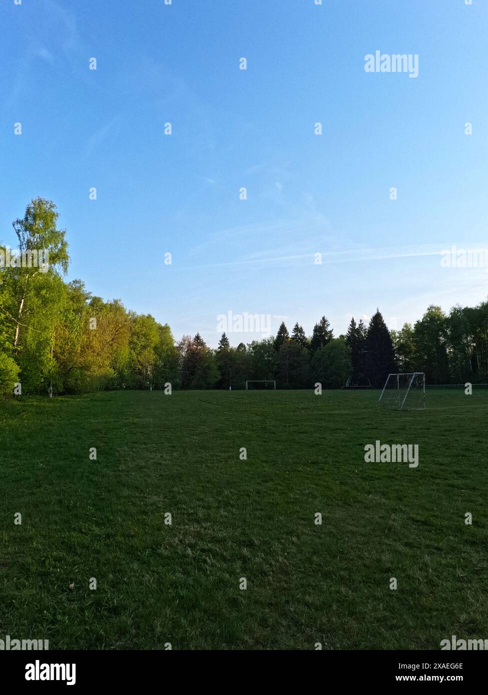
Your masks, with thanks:
[[[488,378],[488,301],[455,306],[446,315],[429,306],[414,326],[389,331],[379,310],[368,325],[352,318],[333,336],[322,316],[306,336],[282,322],[274,337],[231,347],[224,333],[217,350],[200,334],[175,343],[171,329],[149,314],[104,302],[83,282],[67,282],[70,257],[54,203],[33,199],[13,222],[16,255],[0,249],[0,393],[84,393],[100,389],[244,388],[246,380],[277,388],[350,384],[383,386],[388,373],[425,372],[429,384]],[[49,263],[32,262],[44,250]],[[35,256],[34,256],[35,257]],[[44,258],[44,256],[43,256]],[[31,261],[29,263],[29,261]]]

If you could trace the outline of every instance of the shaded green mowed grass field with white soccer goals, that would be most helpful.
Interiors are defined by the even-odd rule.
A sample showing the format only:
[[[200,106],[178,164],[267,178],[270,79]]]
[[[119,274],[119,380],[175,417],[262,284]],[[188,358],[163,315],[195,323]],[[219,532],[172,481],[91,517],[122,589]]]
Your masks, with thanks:
[[[429,389],[425,411],[401,414],[377,410],[378,395],[1,402],[0,637],[51,649],[487,638],[488,391]],[[366,464],[377,439],[418,443],[418,468]]]

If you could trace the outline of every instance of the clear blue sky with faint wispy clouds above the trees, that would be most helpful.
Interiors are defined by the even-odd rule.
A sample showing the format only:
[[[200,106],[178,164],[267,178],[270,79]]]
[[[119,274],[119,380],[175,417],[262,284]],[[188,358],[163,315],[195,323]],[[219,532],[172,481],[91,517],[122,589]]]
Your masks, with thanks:
[[[487,297],[439,256],[488,247],[485,0],[3,0],[0,22],[1,243],[52,199],[70,279],[212,347],[228,311],[338,335]],[[418,77],[365,72],[376,50]]]

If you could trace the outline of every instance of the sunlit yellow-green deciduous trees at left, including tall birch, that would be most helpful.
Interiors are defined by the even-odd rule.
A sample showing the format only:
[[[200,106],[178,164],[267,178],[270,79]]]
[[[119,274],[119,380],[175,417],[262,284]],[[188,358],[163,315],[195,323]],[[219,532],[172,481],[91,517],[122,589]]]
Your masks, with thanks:
[[[56,206],[36,198],[13,227],[19,254],[47,250],[47,267],[0,268],[0,350],[19,367],[23,393],[87,393],[178,384],[180,356],[168,325],[65,283],[68,244]],[[18,265],[18,267],[17,267]]]

